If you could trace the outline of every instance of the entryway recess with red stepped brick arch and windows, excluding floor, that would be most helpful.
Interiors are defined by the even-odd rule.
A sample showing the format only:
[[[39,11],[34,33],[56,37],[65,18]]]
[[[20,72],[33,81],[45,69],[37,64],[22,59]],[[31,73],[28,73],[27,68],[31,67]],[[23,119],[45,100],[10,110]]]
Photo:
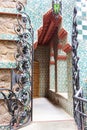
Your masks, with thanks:
[[[43,15],[43,26],[38,29],[38,41],[34,44],[34,59],[39,64],[39,75],[36,74],[39,97],[48,98],[73,115],[72,47],[62,20],[61,16],[55,19],[52,10]]]

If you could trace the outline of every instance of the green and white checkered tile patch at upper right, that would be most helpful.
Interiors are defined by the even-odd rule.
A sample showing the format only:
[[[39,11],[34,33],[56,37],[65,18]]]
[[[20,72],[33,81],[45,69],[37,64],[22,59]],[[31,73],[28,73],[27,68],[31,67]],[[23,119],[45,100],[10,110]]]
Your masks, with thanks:
[[[78,40],[87,40],[87,0],[77,0]]]

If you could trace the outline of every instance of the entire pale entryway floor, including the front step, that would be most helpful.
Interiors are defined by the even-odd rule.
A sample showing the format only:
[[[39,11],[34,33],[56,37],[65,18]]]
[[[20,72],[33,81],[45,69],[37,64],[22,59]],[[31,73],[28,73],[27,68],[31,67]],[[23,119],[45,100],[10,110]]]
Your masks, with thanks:
[[[33,122],[20,130],[77,130],[73,117],[46,98],[33,100]]]

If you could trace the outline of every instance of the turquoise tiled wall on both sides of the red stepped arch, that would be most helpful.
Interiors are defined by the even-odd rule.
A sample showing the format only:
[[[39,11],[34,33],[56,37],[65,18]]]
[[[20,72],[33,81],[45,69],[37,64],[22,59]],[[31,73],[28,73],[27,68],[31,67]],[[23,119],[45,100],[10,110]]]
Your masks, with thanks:
[[[43,14],[52,8],[52,0],[27,0],[27,3],[26,10],[29,12],[34,28],[34,40],[37,40],[37,29],[43,24]],[[74,4],[74,0],[68,2],[67,0],[62,0],[63,27],[70,34],[68,37],[69,43],[71,43]]]

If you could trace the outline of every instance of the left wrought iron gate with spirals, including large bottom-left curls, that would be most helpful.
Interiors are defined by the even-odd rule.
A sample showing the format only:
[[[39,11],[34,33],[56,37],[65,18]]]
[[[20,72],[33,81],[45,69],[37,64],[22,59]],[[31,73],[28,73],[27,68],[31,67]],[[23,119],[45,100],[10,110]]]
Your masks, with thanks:
[[[32,120],[32,70],[33,70],[33,28],[31,20],[21,2],[17,3],[17,68],[11,71],[10,89],[0,88],[0,97],[11,116],[9,124],[0,130],[15,130]]]

